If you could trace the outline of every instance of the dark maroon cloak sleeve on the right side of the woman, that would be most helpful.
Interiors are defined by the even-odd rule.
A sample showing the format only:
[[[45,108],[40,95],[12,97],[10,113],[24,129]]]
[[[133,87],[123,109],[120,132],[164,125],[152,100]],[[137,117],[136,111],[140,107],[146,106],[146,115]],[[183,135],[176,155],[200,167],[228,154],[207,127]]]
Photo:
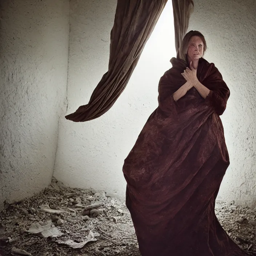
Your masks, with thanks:
[[[230,91],[227,84],[223,81],[221,73],[213,65],[211,73],[202,82],[210,92],[205,98],[205,103],[214,109],[217,115],[222,115],[226,109],[227,101],[230,95]]]

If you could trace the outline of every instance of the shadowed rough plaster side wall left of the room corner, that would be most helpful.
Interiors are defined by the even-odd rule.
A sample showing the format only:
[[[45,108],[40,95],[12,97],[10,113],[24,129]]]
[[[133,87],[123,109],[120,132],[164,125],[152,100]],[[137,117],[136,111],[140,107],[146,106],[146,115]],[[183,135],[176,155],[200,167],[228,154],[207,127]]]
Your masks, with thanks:
[[[67,87],[69,1],[2,0],[0,207],[52,178]]]

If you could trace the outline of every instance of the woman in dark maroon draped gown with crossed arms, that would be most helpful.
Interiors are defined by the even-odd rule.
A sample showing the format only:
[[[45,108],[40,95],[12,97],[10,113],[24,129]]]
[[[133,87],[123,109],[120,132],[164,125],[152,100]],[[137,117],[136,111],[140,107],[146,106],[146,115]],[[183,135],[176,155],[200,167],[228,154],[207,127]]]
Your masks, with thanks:
[[[198,31],[159,82],[159,106],[124,161],[126,204],[142,256],[245,256],[220,226],[215,199],[229,156],[220,115],[229,89]],[[189,68],[188,68],[189,66]]]

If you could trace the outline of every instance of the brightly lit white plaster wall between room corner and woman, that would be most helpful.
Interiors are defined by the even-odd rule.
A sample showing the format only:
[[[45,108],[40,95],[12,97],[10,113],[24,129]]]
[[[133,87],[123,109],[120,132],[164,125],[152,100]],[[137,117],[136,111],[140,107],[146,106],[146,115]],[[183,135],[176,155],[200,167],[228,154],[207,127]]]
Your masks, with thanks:
[[[89,101],[108,69],[116,0],[71,0],[68,109]],[[172,3],[168,2],[122,95],[98,119],[60,119],[54,176],[71,187],[103,189],[123,198],[122,166],[148,116],[157,107],[160,76],[175,55]]]

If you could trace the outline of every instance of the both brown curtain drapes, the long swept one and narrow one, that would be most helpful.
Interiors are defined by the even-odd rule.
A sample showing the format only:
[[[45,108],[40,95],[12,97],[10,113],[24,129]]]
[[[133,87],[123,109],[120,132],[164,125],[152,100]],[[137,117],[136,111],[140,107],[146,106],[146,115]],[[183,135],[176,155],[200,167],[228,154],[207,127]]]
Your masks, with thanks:
[[[167,0],[117,0],[108,72],[94,89],[89,103],[65,116],[66,119],[93,120],[113,106],[125,89],[166,3]],[[193,1],[173,0],[172,4],[177,51],[188,28]]]

